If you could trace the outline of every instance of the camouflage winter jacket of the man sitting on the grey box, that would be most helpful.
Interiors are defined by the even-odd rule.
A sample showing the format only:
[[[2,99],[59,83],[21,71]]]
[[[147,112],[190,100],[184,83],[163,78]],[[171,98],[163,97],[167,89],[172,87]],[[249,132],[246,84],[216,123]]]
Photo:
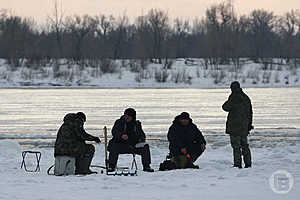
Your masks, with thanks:
[[[80,157],[86,151],[85,141],[95,141],[96,137],[85,132],[83,122],[76,114],[69,113],[57,133],[54,156]]]

